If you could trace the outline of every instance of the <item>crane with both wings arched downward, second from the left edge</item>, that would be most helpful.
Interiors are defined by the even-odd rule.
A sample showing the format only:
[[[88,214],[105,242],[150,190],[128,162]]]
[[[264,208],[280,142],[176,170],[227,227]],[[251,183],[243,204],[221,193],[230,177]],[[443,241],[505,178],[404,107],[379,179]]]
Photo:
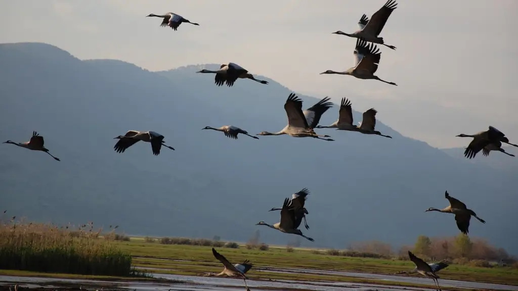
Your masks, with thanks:
[[[113,139],[119,139],[119,141],[113,146],[113,149],[118,153],[123,153],[127,148],[133,146],[138,141],[145,141],[151,143],[151,150],[153,155],[159,155],[162,146],[175,150],[172,147],[166,146],[164,142],[164,136],[149,130],[149,132],[137,132],[136,130],[128,130],[123,136],[114,137]]]

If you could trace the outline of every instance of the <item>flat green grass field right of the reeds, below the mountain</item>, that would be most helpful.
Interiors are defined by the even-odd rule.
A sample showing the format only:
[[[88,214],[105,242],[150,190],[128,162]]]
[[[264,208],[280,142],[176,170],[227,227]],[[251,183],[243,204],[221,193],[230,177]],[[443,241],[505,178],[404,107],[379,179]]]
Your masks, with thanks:
[[[167,270],[148,270],[181,275],[199,275],[205,272],[219,272],[223,269],[211,252],[210,246],[166,245],[147,243],[143,240],[118,242],[124,252],[133,256],[133,265],[141,268],[161,268]],[[241,263],[249,259],[255,267],[270,268],[305,268],[317,270],[355,271],[380,274],[392,274],[397,271],[412,270],[414,265],[409,260],[390,260],[360,257],[330,256],[315,254],[308,249],[295,249],[287,252],[284,247],[272,247],[268,251],[248,250],[244,246],[239,249],[217,248],[232,263]],[[163,260],[163,259],[169,260]],[[175,259],[175,260],[172,260]],[[178,261],[185,260],[185,261]],[[365,282],[364,279],[333,276],[285,274],[273,272],[247,273],[251,279],[296,279]],[[482,268],[461,265],[450,265],[439,273],[442,279],[476,281],[496,284],[518,285],[518,270],[513,268]],[[430,281],[431,282],[431,281]],[[370,282],[372,283],[372,282]],[[377,281],[377,283],[380,283]]]

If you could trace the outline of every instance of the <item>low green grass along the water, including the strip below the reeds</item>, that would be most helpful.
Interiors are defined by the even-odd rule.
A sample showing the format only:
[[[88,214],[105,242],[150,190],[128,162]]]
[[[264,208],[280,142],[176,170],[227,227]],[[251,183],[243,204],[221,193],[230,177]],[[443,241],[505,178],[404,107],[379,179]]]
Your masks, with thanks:
[[[96,238],[103,240],[104,238]],[[110,245],[123,254],[131,254],[132,268],[138,267],[146,273],[164,273],[175,275],[202,275],[207,272],[220,272],[223,266],[215,260],[211,246],[186,244],[161,244],[146,242],[143,238],[131,238],[130,241],[110,241]],[[348,277],[343,274],[328,273],[288,273],[267,272],[268,268],[306,269],[322,271],[350,271],[376,274],[393,274],[398,271],[410,271],[414,268],[409,260],[379,259],[364,257],[347,257],[318,253],[313,249],[294,248],[289,252],[284,246],[270,246],[268,250],[247,249],[243,245],[239,248],[217,248],[232,263],[241,263],[249,259],[254,265],[247,275],[251,280],[298,280],[308,282],[347,282],[357,284],[376,284],[400,287],[430,288],[433,283],[414,284],[396,281],[364,279]],[[153,270],[148,268],[160,268]],[[263,269],[263,270],[260,270]],[[450,265],[439,273],[441,279],[493,283],[503,285],[518,285],[518,270],[508,267],[470,267]],[[21,277],[46,277],[56,279],[89,279],[109,281],[147,281],[173,282],[156,278],[125,277],[117,275],[77,275],[63,273],[45,273],[34,271],[0,270],[0,275]],[[415,275],[413,275],[415,276]],[[413,277],[412,276],[412,277]],[[448,288],[455,290],[457,288]],[[461,290],[459,288],[458,290]],[[462,288],[462,290],[469,290]]]

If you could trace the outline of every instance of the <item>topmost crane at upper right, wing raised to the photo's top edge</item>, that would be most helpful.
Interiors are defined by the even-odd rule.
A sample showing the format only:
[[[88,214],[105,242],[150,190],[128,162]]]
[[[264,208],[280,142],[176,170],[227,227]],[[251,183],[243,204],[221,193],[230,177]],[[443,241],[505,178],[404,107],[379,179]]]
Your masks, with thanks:
[[[349,37],[355,38],[363,38],[366,41],[378,43],[379,45],[383,45],[385,47],[391,48],[393,50],[396,49],[394,46],[389,46],[385,44],[383,37],[379,37],[385,23],[389,19],[392,11],[397,8],[397,3],[395,0],[389,0],[381,7],[378,11],[372,14],[371,19],[363,14],[362,18],[360,18],[358,22],[359,31],[353,33],[344,33],[342,31],[334,32],[333,34],[346,35]]]

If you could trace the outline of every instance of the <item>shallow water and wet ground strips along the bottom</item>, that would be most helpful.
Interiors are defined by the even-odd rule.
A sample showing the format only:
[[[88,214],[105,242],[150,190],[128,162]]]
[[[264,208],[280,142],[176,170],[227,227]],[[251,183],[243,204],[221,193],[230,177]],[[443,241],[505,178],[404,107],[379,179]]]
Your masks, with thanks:
[[[321,271],[307,269],[277,269],[277,268],[256,268],[261,272],[289,272],[289,273],[314,273],[314,274],[333,274],[344,275],[348,277],[367,278],[370,280],[387,280],[393,282],[407,282],[418,284],[430,284],[433,289],[431,280],[426,278],[402,277],[381,274],[341,272],[341,271]],[[137,290],[137,291],[168,291],[168,290],[189,290],[189,291],[218,291],[218,290],[244,290],[243,281],[231,278],[214,278],[214,277],[194,277],[170,274],[154,274],[156,278],[165,279],[163,282],[114,282],[114,281],[97,281],[97,280],[77,280],[77,279],[54,279],[54,278],[36,278],[36,277],[11,277],[0,276],[0,291],[8,290],[11,286],[18,284],[18,291],[23,291],[27,287],[36,290],[46,287],[45,290]],[[358,284],[358,283],[338,283],[338,282],[300,282],[291,280],[271,280],[271,281],[254,281],[247,280],[247,284],[251,290],[315,290],[315,291],[334,291],[334,290],[378,290],[378,291],[417,291],[430,290],[413,287],[383,286],[376,284]],[[493,289],[493,290],[518,290],[518,286],[507,286],[498,284],[486,284],[476,282],[465,282],[455,280],[440,280],[441,287],[471,288],[471,289]]]

